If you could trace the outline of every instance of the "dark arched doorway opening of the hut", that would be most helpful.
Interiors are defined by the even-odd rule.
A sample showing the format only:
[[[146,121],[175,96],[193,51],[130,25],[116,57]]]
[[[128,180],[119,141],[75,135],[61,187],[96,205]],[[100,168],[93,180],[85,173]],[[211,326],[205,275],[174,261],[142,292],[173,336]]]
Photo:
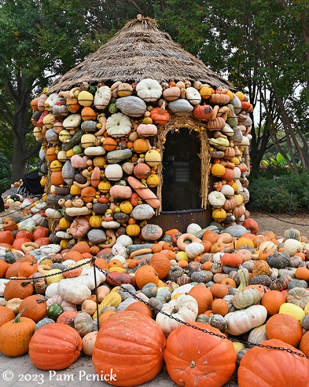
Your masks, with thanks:
[[[162,160],[162,212],[201,208],[199,153],[198,132],[179,128],[166,135]]]

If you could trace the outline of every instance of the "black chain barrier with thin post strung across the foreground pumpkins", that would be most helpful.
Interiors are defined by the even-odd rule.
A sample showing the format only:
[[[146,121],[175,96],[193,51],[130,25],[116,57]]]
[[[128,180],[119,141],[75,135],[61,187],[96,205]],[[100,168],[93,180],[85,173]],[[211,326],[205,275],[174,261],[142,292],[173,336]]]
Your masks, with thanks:
[[[193,329],[196,329],[197,331],[200,331],[200,332],[203,332],[203,333],[206,333],[206,334],[210,334],[211,336],[216,336],[216,337],[219,337],[219,338],[224,338],[226,340],[229,340],[231,341],[232,343],[242,343],[244,344],[245,346],[247,347],[260,347],[260,348],[267,348],[268,350],[280,350],[280,351],[285,351],[285,352],[288,352],[290,354],[296,354],[297,356],[300,356],[300,357],[304,357],[306,359],[309,359],[309,356],[306,356],[305,354],[302,354],[302,353],[299,353],[299,352],[295,352],[293,350],[290,350],[289,348],[285,348],[285,347],[276,347],[276,346],[273,346],[273,345],[264,345],[264,344],[261,344],[261,343],[251,343],[250,341],[245,341],[245,340],[241,340],[240,338],[233,338],[233,337],[227,337],[227,336],[224,336],[223,334],[216,334],[215,332],[209,332],[207,331],[207,329],[202,329],[200,327],[197,327],[196,325],[192,325],[192,324],[189,324],[188,322],[184,322],[182,320],[180,320],[179,318],[176,318],[174,317],[173,315],[170,315],[168,313],[166,313],[165,311],[161,311],[161,309],[158,309],[157,307],[154,307],[153,305],[151,305],[149,302],[143,300],[143,298],[140,298],[138,295],[132,293],[131,291],[129,291],[128,289],[126,289],[123,284],[117,282],[114,278],[110,277],[108,275],[108,273],[99,268],[97,265],[96,265],[96,257],[92,257],[92,259],[89,259],[89,261],[86,261],[86,262],[82,262],[82,264],[79,264],[77,266],[74,266],[74,268],[68,268],[68,269],[65,269],[65,270],[62,270],[62,273],[65,273],[65,272],[68,272],[70,270],[75,270],[76,268],[79,268],[81,266],[85,266],[87,264],[92,264],[92,266],[94,267],[94,284],[95,284],[95,292],[97,294],[97,289],[98,289],[98,285],[96,284],[96,268],[105,275],[105,277],[107,277],[109,280],[111,280],[112,282],[114,282],[114,284],[116,286],[119,286],[123,291],[129,293],[130,295],[132,295],[132,298],[136,299],[136,300],[139,300],[141,302],[143,302],[145,305],[147,305],[152,311],[157,311],[157,313],[161,313],[161,314],[164,314],[164,316],[168,317],[168,318],[171,318],[172,320],[175,320],[177,322],[179,322],[180,324],[182,325],[186,325],[186,327],[191,327]],[[52,274],[47,274],[47,275],[42,275],[41,277],[39,277],[39,279],[42,279],[42,278],[48,278],[48,277],[53,277],[55,275],[59,275],[60,273],[52,273]],[[35,280],[37,279],[37,277],[35,278],[28,278],[28,279],[25,279],[25,278],[15,278],[15,277],[10,277],[10,278],[6,278],[6,279],[9,279],[9,280],[14,280],[14,281],[23,281],[23,282],[26,282],[27,280],[30,282],[35,282]],[[97,315],[99,317],[99,313],[98,313],[98,302],[97,302]],[[98,320],[98,318],[97,318]],[[99,322],[98,322],[98,329],[100,329],[99,327]]]

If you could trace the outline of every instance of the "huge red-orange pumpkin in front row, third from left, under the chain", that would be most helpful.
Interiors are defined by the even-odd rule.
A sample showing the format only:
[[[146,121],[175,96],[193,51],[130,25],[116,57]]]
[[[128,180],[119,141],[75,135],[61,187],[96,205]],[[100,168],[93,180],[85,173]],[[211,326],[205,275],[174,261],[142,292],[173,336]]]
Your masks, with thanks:
[[[203,322],[200,329],[222,333]],[[236,352],[231,341],[181,325],[166,341],[164,360],[168,375],[178,386],[223,386],[236,368]]]

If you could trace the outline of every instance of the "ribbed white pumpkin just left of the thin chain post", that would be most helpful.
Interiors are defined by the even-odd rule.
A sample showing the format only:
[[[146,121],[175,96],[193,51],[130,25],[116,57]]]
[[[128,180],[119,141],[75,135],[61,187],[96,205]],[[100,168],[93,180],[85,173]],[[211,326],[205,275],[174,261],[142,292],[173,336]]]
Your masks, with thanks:
[[[63,300],[78,305],[90,297],[91,291],[87,285],[82,284],[76,278],[78,277],[61,279],[58,282],[58,294]]]

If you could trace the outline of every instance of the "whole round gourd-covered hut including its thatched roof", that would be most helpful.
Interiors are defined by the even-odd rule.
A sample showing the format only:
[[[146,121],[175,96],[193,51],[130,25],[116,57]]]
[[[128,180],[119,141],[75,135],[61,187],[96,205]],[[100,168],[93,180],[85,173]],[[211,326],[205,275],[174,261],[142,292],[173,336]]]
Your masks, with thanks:
[[[252,105],[153,19],[128,22],[32,107],[58,238],[104,247],[249,216]]]

